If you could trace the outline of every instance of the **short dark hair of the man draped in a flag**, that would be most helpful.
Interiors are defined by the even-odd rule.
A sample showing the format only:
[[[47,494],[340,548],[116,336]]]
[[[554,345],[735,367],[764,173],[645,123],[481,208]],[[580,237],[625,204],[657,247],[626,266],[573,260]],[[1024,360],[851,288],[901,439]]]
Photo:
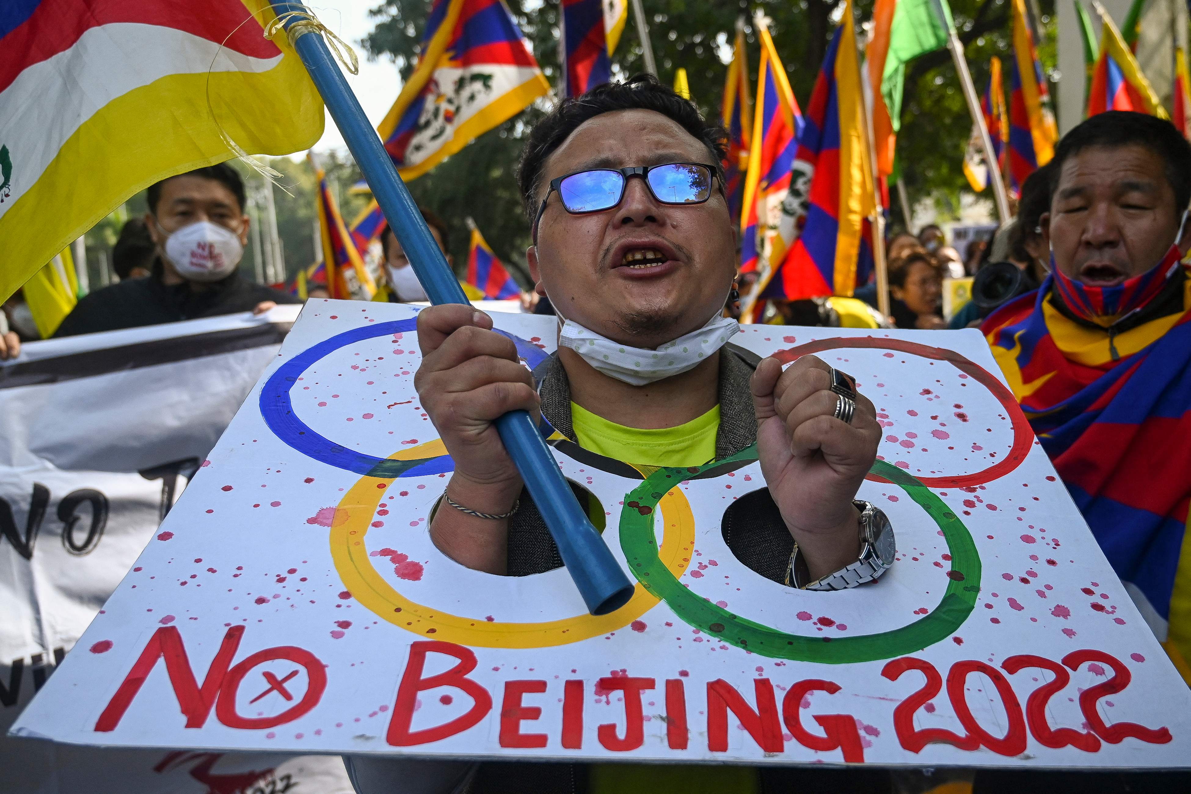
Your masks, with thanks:
[[[1191,143],[1173,124],[1148,113],[1108,111],[1075,125],[1062,136],[1050,165],[1050,194],[1054,194],[1068,157],[1090,146],[1145,146],[1166,163],[1166,181],[1174,190],[1174,210],[1181,213],[1191,204]]]

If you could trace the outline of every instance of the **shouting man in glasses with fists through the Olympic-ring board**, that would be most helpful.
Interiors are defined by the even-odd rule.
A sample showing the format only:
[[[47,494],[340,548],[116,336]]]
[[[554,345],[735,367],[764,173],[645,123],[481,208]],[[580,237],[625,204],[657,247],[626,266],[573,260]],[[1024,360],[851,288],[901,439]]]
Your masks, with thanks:
[[[728,508],[724,537],[766,579],[835,590],[872,582],[892,563],[884,513],[854,501],[880,439],[872,404],[813,356],[782,371],[729,345],[740,329],[722,317],[736,270],[723,157],[722,131],[651,76],[563,100],[531,132],[519,174],[534,237],[526,258],[562,323],[557,354],[535,373],[540,386],[486,314],[460,305],[418,314],[414,383],[455,462],[429,531],[460,564],[510,576],[562,564],[493,425],[515,408],[617,465],[701,465],[755,442],[765,483]],[[405,792],[464,784],[475,794],[512,790],[501,782],[510,780],[535,792],[747,793],[761,776],[711,765],[464,764],[423,787],[385,762],[355,758],[351,769],[364,794],[395,790],[394,775]]]

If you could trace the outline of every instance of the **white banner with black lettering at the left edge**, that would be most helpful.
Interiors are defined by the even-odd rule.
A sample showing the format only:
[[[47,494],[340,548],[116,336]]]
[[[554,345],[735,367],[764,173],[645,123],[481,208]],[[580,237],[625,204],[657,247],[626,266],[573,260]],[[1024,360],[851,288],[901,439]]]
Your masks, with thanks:
[[[35,342],[0,365],[0,732],[132,567],[295,317],[285,306]],[[4,794],[299,792],[317,764],[0,737]]]

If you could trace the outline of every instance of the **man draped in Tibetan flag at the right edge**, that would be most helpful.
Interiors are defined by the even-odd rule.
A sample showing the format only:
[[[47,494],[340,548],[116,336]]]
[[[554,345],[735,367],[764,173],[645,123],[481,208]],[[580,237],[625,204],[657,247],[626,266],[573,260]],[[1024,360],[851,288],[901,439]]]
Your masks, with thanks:
[[[1191,144],[1168,121],[1112,111],[1067,133],[1054,164],[1052,275],[981,330],[1179,664],[1191,658]]]

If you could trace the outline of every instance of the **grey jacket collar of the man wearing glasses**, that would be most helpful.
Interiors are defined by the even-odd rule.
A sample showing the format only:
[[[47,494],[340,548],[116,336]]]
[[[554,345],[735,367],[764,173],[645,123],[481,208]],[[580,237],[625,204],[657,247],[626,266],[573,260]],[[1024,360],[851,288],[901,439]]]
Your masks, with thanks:
[[[716,457],[735,455],[756,440],[756,415],[749,380],[756,368],[756,356],[743,348],[727,345],[719,354],[719,431],[716,433]],[[570,424],[570,382],[567,371],[553,354],[534,371],[542,398],[542,417],[560,433],[575,440]]]

